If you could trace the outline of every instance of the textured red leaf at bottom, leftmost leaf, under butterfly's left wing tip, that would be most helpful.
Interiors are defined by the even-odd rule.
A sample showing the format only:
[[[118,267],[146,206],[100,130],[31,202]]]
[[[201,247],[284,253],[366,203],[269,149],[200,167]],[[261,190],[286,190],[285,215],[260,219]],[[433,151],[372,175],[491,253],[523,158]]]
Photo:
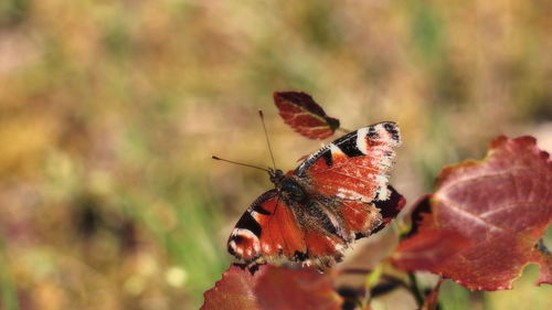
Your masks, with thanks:
[[[205,301],[200,310],[258,310],[253,287],[265,271],[263,267],[252,276],[247,269],[231,266],[214,288],[205,291]]]

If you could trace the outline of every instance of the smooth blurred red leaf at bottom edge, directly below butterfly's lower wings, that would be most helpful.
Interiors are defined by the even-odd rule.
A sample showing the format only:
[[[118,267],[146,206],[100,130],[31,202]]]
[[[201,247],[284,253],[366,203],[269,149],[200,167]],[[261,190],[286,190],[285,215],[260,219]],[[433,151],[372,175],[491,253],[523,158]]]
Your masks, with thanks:
[[[329,274],[312,268],[293,270],[270,266],[255,287],[263,310],[339,310],[342,298]]]

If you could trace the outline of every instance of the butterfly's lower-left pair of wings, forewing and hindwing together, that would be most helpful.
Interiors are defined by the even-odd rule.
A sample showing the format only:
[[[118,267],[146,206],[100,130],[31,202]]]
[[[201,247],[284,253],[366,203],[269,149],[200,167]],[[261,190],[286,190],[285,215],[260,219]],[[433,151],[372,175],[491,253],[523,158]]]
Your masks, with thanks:
[[[341,259],[347,243],[319,204],[287,205],[277,190],[262,194],[237,221],[229,252],[251,266],[282,259],[331,266]]]

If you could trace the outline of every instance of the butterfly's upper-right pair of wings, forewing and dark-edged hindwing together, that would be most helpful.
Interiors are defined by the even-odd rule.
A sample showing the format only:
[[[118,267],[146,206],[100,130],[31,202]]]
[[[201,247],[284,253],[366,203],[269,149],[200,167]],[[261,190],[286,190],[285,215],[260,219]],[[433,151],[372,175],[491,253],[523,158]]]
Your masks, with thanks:
[[[384,227],[391,221],[388,213],[396,215],[404,205],[389,185],[394,148],[400,145],[395,122],[371,125],[337,139],[288,174],[327,201],[341,236],[350,242]]]

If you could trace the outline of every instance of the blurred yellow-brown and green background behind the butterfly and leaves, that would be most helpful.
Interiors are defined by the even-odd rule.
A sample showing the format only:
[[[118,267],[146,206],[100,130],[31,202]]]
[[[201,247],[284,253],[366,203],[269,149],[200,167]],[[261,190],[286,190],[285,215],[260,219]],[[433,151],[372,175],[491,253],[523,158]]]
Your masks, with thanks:
[[[551,29],[545,0],[1,0],[0,309],[199,308],[270,188],[210,157],[269,165],[259,108],[280,169],[320,146],[274,90],[348,129],[399,121],[393,184],[411,203],[498,135],[551,151]],[[535,277],[440,298],[546,309]]]

